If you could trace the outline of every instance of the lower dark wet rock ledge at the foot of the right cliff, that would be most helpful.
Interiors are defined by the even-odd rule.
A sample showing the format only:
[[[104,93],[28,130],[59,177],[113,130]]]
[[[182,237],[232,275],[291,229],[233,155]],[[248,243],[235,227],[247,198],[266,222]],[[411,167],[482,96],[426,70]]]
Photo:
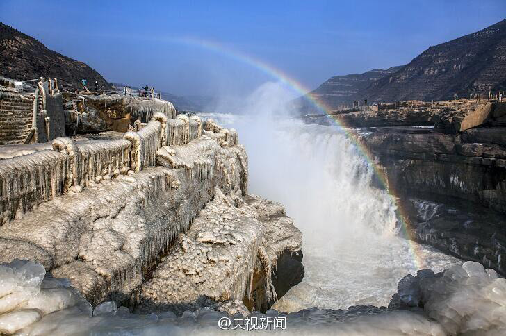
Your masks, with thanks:
[[[506,274],[504,215],[471,202],[423,196],[398,200],[412,239]]]

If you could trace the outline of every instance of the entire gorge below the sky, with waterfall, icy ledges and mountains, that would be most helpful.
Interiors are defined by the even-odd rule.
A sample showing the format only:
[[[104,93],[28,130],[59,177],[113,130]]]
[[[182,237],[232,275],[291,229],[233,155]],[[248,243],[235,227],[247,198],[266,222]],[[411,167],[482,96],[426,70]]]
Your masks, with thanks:
[[[334,78],[320,96],[335,105],[375,87],[373,105],[286,112],[267,83],[241,133],[154,96],[71,90],[81,76],[108,83],[0,25],[6,76],[32,66],[26,50],[65,68],[35,63],[34,85],[0,78],[0,333],[210,335],[223,319],[320,335],[506,333],[506,103],[482,93],[502,88],[503,72],[487,74],[502,69],[504,23]],[[457,81],[443,68],[468,69],[454,51],[496,40],[480,76],[445,86]],[[463,62],[477,67],[475,54]],[[474,96],[441,100],[454,92]],[[269,193],[251,193],[252,178]]]

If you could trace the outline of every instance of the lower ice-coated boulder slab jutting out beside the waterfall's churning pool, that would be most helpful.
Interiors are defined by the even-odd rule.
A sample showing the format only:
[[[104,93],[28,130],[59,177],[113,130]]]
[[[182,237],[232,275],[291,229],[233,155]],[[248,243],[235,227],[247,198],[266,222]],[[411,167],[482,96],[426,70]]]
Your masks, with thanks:
[[[254,306],[270,301],[277,255],[299,251],[302,234],[278,203],[256,196],[245,200],[216,190],[213,201],[142,285],[138,310],[169,308],[181,314],[217,301],[238,300],[243,305],[241,300],[252,300],[256,289],[255,271],[265,280]],[[229,309],[238,310],[234,305]]]

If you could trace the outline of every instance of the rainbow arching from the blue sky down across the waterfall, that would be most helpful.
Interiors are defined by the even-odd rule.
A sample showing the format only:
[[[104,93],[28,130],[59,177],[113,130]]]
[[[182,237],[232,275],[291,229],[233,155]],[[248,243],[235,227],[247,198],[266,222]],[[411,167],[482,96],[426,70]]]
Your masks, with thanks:
[[[291,76],[288,76],[288,74],[285,74],[284,72],[281,72],[281,70],[272,67],[272,65],[269,65],[263,60],[253,58],[252,56],[247,55],[245,53],[241,53],[240,51],[230,49],[229,47],[226,47],[225,45],[222,45],[218,42],[202,40],[193,37],[171,38],[169,39],[169,41],[178,44],[185,44],[190,47],[201,48],[207,51],[213,51],[213,53],[220,54],[222,56],[225,56],[226,58],[230,58],[232,60],[236,60],[238,62],[254,67],[259,71],[263,72],[264,74],[267,74],[272,78],[275,78],[281,84],[286,85],[287,87],[291,87],[291,89],[293,89],[301,96],[306,96],[307,100],[319,112],[326,115],[330,120],[334,122],[334,124],[336,124],[339,127],[341,131],[343,131],[343,133],[345,133],[345,135],[352,141],[352,143],[355,146],[357,146],[357,149],[359,149],[361,155],[368,162],[370,162],[370,165],[374,168],[374,172],[378,180],[380,181],[380,183],[382,183],[385,190],[389,192],[391,199],[393,199],[393,202],[397,205],[398,219],[401,222],[401,230],[403,230],[405,236],[409,237],[409,233],[411,231],[408,230],[409,224],[408,221],[406,220],[407,216],[405,215],[405,212],[401,209],[400,205],[398,205],[398,203],[395,201],[397,199],[397,196],[395,196],[395,194],[393,194],[393,192],[389,189],[388,184],[386,182],[386,175],[382,170],[378,169],[378,166],[372,159],[373,155],[370,153],[369,149],[366,146],[364,146],[364,144],[361,144],[361,142],[357,141],[357,137],[350,131],[350,128],[347,125],[345,125],[345,123],[342,120],[339,120],[330,113],[330,111],[332,110],[331,108],[326,106],[325,103],[323,103],[322,101],[318,101],[316,97],[308,94],[308,92],[310,92],[311,90],[307,89],[307,87],[304,87],[304,85],[302,85],[295,79],[291,78]],[[423,252],[421,251],[421,247],[418,244],[416,244],[416,242],[414,242],[413,239],[409,239],[408,242],[409,242],[409,249],[411,251],[411,254],[413,255],[415,267],[417,269],[426,268],[425,263],[423,262]]]

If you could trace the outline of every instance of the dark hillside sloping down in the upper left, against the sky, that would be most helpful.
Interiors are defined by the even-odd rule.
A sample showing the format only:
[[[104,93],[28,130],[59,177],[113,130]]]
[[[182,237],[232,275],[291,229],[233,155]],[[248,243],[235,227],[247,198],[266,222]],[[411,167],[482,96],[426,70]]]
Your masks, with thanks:
[[[72,60],[47,49],[33,37],[0,22],[0,76],[17,80],[43,76],[58,78],[60,83],[79,85],[82,78],[89,84],[98,81],[104,87],[107,81],[83,62]]]

